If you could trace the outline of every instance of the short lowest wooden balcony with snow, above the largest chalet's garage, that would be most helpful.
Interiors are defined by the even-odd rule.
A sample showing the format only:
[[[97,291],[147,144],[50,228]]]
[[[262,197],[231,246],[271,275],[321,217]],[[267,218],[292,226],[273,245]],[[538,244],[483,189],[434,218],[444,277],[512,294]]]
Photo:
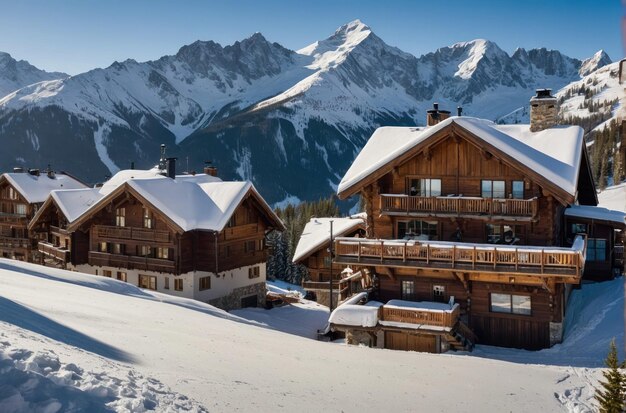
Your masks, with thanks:
[[[392,302],[399,300],[392,300]],[[408,303],[407,303],[408,304]],[[410,303],[413,304],[413,303]],[[419,324],[428,327],[443,327],[452,329],[459,321],[461,307],[455,304],[451,309],[432,308],[433,305],[441,303],[424,303],[424,307],[419,307],[420,303],[412,305],[389,305],[385,304],[380,308],[379,322],[382,325],[391,323]],[[441,307],[449,307],[441,304]]]

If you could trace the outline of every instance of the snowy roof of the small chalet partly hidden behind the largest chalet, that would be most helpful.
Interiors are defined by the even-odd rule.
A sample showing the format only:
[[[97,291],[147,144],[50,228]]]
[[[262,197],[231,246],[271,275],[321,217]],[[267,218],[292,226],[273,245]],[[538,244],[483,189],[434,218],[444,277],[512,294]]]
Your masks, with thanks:
[[[341,237],[348,232],[365,224],[365,213],[352,215],[347,218],[311,218],[305,225],[296,251],[293,254],[293,262],[306,258],[318,248],[327,244],[330,240],[330,221],[333,221],[333,237]]]

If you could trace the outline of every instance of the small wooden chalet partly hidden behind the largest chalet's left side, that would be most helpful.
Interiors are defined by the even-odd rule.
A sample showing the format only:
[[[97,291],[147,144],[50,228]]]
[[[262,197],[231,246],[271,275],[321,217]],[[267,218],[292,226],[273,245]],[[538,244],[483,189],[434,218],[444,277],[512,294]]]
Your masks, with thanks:
[[[365,214],[347,218],[311,218],[305,225],[292,261],[307,268],[308,277],[302,287],[314,295],[315,300],[330,305],[330,280],[333,280],[333,304],[345,300],[366,285],[367,276],[358,267],[332,266],[330,256],[330,223],[334,237],[363,237]]]

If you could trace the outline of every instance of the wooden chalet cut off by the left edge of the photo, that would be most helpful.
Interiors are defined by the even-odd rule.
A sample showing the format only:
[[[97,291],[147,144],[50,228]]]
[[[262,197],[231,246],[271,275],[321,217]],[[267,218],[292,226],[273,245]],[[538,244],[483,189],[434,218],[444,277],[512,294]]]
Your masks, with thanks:
[[[0,256],[38,262],[40,234],[29,234],[28,223],[53,190],[85,188],[66,174],[51,170],[24,170],[0,175]]]

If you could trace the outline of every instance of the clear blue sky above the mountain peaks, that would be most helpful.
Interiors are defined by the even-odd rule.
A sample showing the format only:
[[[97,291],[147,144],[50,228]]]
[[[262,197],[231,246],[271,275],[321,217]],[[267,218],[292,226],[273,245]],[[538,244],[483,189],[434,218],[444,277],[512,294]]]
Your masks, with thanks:
[[[624,10],[620,0],[0,0],[0,51],[76,74],[254,32],[297,50],[358,18],[416,56],[484,38],[509,54],[547,47],[584,59],[604,49],[616,61]]]

